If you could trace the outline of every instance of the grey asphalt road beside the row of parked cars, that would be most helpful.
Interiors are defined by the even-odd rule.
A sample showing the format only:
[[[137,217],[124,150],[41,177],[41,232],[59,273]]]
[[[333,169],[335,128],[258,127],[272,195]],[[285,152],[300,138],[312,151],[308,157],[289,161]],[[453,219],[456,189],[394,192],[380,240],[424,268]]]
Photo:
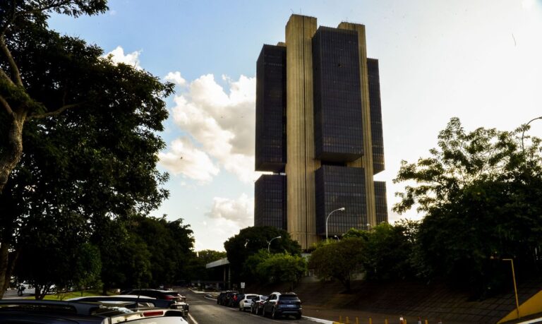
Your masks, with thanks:
[[[217,324],[217,323],[311,323],[306,319],[296,320],[293,317],[284,317],[278,320],[256,316],[250,312],[239,311],[239,308],[229,308],[217,305],[215,299],[206,299],[203,294],[195,294],[187,289],[180,289],[182,295],[186,296],[186,302],[190,305],[190,316],[188,321],[191,324]]]

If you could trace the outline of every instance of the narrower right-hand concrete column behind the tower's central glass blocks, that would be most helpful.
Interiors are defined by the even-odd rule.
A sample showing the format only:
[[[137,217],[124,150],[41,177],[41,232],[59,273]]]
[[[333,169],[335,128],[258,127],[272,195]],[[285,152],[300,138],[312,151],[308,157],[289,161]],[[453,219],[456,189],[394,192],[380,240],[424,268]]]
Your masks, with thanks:
[[[367,222],[376,225],[375,184],[373,180],[373,139],[371,138],[371,105],[369,102],[369,77],[367,73],[367,45],[365,25],[340,23],[339,29],[356,30],[359,47],[359,77],[361,78],[361,116],[363,125],[363,157],[350,162],[349,167],[363,167],[365,170],[365,192],[367,204]]]

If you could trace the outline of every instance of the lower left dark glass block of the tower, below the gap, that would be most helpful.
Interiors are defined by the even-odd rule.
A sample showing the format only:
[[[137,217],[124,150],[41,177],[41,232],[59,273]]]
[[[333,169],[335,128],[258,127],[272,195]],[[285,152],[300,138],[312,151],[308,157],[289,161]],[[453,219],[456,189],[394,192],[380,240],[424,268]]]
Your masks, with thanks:
[[[286,176],[260,176],[254,184],[254,226],[287,229],[286,193]]]

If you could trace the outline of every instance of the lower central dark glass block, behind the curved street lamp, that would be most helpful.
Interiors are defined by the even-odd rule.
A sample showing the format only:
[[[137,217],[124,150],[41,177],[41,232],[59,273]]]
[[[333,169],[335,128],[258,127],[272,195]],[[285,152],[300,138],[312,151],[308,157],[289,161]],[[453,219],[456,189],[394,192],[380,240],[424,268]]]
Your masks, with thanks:
[[[325,219],[328,236],[342,235],[349,229],[366,229],[367,206],[365,173],[362,168],[323,165],[315,172],[316,234],[325,236]]]

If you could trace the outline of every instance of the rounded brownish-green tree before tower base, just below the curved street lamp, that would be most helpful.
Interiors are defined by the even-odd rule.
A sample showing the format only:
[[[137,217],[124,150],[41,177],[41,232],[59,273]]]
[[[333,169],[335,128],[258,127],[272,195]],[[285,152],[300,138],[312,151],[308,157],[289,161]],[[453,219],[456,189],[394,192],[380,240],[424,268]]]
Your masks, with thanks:
[[[353,272],[363,270],[363,256],[366,241],[359,238],[346,238],[330,241],[318,247],[308,260],[308,268],[314,269],[321,280],[337,280],[350,292]]]

